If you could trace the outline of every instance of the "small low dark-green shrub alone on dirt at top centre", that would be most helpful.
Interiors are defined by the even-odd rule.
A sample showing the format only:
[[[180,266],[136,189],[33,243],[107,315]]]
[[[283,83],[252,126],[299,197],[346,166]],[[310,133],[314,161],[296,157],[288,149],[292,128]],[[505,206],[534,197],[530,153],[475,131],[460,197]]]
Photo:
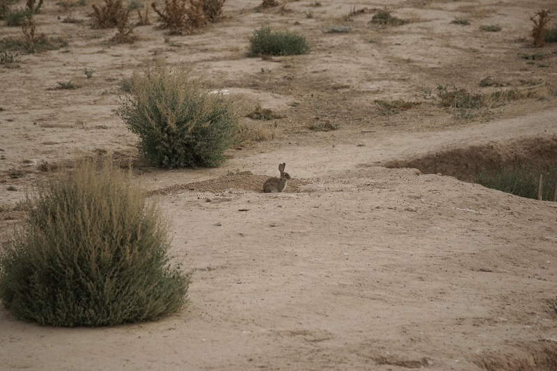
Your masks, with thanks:
[[[291,56],[309,53],[309,45],[303,36],[290,32],[275,32],[269,24],[253,31],[249,38],[248,56]]]

